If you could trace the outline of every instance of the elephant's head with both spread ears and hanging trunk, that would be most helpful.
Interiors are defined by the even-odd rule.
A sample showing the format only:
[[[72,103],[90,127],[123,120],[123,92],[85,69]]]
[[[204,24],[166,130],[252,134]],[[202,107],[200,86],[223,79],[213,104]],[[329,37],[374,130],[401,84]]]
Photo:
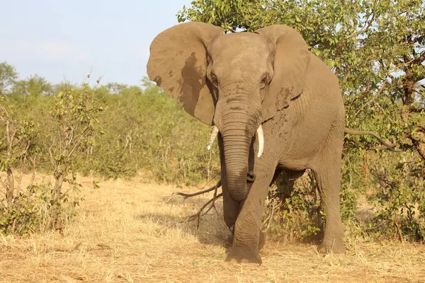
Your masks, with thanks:
[[[186,112],[220,131],[229,192],[242,201],[254,134],[260,129],[261,139],[261,123],[302,93],[310,55],[286,25],[223,33],[196,22],[164,30],[150,47],[147,74]]]

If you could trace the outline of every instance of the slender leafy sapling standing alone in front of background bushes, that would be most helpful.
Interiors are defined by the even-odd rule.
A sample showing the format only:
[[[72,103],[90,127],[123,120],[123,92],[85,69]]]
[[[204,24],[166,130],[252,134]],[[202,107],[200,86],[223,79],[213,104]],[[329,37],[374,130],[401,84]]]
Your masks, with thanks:
[[[98,106],[94,90],[84,84],[81,88],[69,86],[57,93],[50,108],[53,129],[49,133],[48,149],[55,177],[52,188],[52,219],[55,229],[62,230],[61,205],[67,202],[68,192],[62,192],[63,183],[76,190],[77,161],[94,144],[94,126],[98,121]]]

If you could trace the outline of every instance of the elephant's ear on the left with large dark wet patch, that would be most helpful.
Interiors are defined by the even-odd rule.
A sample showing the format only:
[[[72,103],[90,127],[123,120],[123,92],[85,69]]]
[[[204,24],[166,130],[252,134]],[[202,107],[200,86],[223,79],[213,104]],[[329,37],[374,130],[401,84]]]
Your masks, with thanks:
[[[215,105],[207,83],[207,47],[222,28],[181,23],[164,30],[150,46],[147,75],[193,117],[212,125]]]

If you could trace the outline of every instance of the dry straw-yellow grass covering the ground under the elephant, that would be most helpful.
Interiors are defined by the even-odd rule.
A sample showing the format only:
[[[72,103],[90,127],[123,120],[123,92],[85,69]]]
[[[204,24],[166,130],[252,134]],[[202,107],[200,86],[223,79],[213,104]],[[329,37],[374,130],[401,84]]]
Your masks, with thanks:
[[[425,282],[425,246],[348,241],[347,255],[268,241],[263,265],[224,262],[227,235],[210,212],[196,231],[180,220],[209,199],[194,188],[82,178],[84,202],[64,236],[0,236],[1,282]],[[220,211],[220,209],[219,209]]]

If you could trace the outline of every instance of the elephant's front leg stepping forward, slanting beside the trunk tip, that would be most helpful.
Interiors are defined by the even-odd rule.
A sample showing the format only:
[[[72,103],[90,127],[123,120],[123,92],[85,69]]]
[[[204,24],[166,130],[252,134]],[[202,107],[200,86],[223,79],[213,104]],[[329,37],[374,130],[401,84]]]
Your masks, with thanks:
[[[264,241],[260,231],[261,216],[277,165],[264,162],[268,159],[266,156],[261,156],[261,159],[263,162],[256,161],[254,169],[256,179],[237,216],[236,224],[234,224],[233,246],[226,261],[236,260],[241,262],[246,260],[247,262],[261,263],[259,248]]]

